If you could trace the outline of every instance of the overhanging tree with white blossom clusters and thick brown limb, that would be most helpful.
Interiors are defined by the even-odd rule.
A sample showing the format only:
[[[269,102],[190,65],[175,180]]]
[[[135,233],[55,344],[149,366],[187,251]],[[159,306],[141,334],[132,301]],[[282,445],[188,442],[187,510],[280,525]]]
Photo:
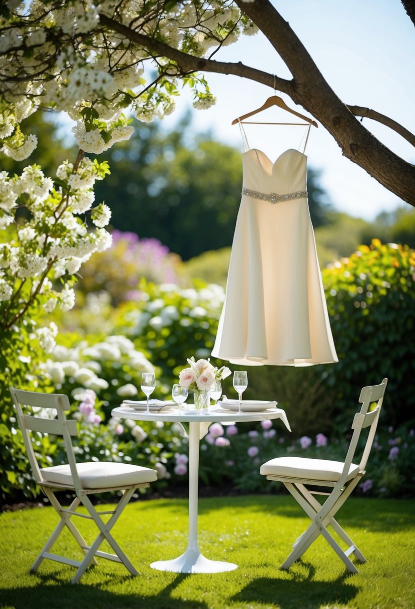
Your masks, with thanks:
[[[413,18],[413,2],[403,5]],[[222,46],[258,29],[291,79],[215,60]],[[146,66],[147,72],[156,70],[149,83]],[[27,318],[32,306],[46,312],[57,304],[71,308],[78,269],[111,244],[105,231],[110,209],[94,205],[93,191],[110,170],[86,155],[93,158],[131,137],[126,111],[141,121],[172,112],[178,83],[193,91],[194,107],[209,107],[215,99],[204,72],[277,87],[326,128],[344,156],[415,206],[415,167],[380,143],[357,116],[380,121],[411,143],[413,134],[375,110],[340,100],[269,0],[8,0],[0,8],[0,153],[16,161],[32,155],[37,138],[25,133],[24,120],[39,108],[65,111],[75,121],[79,152],[54,178],[36,164],[13,177],[0,172],[3,328]],[[29,220],[18,224],[21,206]],[[51,347],[51,336],[41,337]]]

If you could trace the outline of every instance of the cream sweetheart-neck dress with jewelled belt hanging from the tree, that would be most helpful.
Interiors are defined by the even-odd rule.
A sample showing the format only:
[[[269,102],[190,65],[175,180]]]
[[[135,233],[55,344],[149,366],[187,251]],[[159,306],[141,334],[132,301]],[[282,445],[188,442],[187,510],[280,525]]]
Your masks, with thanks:
[[[238,365],[337,362],[307,203],[307,157],[290,149],[272,163],[248,148],[240,127],[242,200],[212,356]]]

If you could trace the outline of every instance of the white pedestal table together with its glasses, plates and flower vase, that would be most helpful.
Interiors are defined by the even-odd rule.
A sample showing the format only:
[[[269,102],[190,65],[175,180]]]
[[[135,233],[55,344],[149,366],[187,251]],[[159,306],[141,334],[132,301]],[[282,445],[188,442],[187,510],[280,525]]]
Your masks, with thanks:
[[[209,360],[194,357],[187,359],[188,368],[180,371],[178,382],[172,387],[172,400],[150,400],[155,388],[152,373],[143,373],[142,391],[147,400],[124,400],[112,410],[113,417],[140,421],[178,422],[189,424],[189,536],[186,550],[177,558],[151,563],[153,569],[177,573],[219,573],[233,571],[237,565],[221,560],[210,560],[201,554],[198,546],[198,481],[200,440],[208,433],[212,423],[280,419],[291,431],[285,411],[277,407],[277,401],[242,400],[248,386],[246,371],[235,371],[233,386],[238,399],[228,399],[222,394],[221,381],[231,375],[228,367],[214,367]],[[241,374],[242,372],[242,374]],[[148,374],[152,376],[147,376]],[[189,392],[194,403],[188,404]],[[211,400],[214,404],[211,404]]]

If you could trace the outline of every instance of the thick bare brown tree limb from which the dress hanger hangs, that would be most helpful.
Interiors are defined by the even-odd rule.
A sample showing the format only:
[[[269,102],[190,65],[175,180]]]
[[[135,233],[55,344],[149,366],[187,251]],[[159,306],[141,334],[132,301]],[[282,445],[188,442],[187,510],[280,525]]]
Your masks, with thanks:
[[[409,1],[406,0],[407,3]],[[235,0],[235,2],[262,30],[293,75],[293,80],[276,77],[277,88],[290,96],[296,104],[305,108],[327,129],[337,141],[345,157],[362,167],[389,191],[415,206],[415,167],[378,141],[358,121],[353,111],[337,97],[324,80],[307,49],[271,2],[268,0],[255,0],[254,2]],[[255,80],[271,88],[274,86],[273,74],[251,68],[241,62],[217,62],[212,59],[194,57],[173,49],[155,38],[136,32],[105,15],[100,15],[100,23],[104,27],[122,33],[125,38],[144,47],[151,54],[169,57],[180,66],[183,74],[194,71],[234,74]],[[361,114],[358,115],[361,116]],[[382,115],[377,114],[377,116]],[[396,127],[391,128],[397,130]],[[403,127],[400,128],[406,132]]]

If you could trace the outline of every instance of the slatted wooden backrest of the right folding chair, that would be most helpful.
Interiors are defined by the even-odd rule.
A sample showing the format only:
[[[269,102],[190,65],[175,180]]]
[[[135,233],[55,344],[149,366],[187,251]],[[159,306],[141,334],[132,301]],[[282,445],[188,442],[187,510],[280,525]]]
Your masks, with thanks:
[[[369,454],[375,438],[375,432],[379,420],[380,410],[382,409],[383,396],[385,395],[387,384],[388,379],[383,379],[380,385],[369,385],[368,387],[363,387],[360,392],[359,402],[361,403],[361,409],[360,412],[355,414],[353,419],[353,435],[352,439],[350,440],[349,450],[347,451],[346,460],[344,462],[343,473],[341,474],[339,481],[341,484],[343,484],[349,475],[350,464],[354,462],[354,456],[362,429],[370,427],[359,464],[360,471],[364,471],[366,468],[366,463],[368,463]],[[372,408],[372,410],[369,410],[369,406],[371,406],[371,404],[376,404],[376,406]]]

